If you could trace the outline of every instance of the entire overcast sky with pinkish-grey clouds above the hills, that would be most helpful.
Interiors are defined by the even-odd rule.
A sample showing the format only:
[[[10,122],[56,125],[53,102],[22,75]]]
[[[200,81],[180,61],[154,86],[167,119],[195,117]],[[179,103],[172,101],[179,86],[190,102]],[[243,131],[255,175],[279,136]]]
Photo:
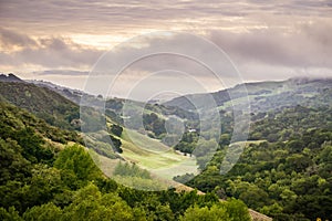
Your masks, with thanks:
[[[175,32],[152,34],[156,31]],[[160,44],[188,53],[200,49],[186,33],[221,49],[238,75],[226,74],[228,83],[219,84],[197,62],[160,55],[124,70],[114,95],[135,91],[134,85],[152,73],[158,74],[147,81],[149,85],[186,85],[179,75],[203,84],[200,88],[188,83],[187,93],[217,91],[241,81],[332,77],[331,0],[0,0],[0,72],[83,90],[89,73],[107,53],[124,62],[129,53]],[[207,50],[199,53],[220,62]]]

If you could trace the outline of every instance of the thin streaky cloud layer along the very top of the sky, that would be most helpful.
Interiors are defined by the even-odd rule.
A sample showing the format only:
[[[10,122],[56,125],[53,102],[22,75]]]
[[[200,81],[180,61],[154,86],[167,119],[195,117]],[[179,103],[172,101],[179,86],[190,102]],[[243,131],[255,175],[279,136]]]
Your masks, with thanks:
[[[331,9],[329,0],[11,0],[1,2],[0,25],[29,30],[33,34],[45,31],[56,34],[128,34],[144,29],[247,28],[266,23],[271,18],[286,24],[307,20],[307,17],[313,20],[331,18]],[[291,20],[287,21],[289,17]]]

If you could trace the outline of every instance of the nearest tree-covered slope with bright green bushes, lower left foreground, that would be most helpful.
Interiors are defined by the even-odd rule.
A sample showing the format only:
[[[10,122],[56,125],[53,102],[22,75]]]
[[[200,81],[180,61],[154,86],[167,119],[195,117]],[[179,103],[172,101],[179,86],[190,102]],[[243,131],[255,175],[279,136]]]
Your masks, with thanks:
[[[215,193],[139,191],[96,167],[73,133],[0,103],[1,220],[250,220]]]

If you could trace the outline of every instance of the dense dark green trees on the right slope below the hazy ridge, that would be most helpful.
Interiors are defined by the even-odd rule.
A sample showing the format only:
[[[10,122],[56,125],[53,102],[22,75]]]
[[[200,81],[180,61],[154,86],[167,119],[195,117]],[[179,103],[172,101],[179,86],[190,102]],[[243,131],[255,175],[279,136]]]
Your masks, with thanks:
[[[189,183],[235,197],[274,220],[331,220],[332,109],[302,106],[257,114],[251,141],[237,165],[219,172],[228,147]],[[260,116],[260,117],[257,117]],[[177,178],[178,179],[178,178]]]

